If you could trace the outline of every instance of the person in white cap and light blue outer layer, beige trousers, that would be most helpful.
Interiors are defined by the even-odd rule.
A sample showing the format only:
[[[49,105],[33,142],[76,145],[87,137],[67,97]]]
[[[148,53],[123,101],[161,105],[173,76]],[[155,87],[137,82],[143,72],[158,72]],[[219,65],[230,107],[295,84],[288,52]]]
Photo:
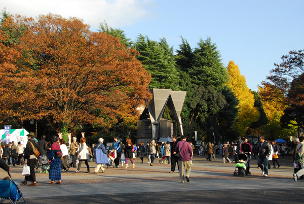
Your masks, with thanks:
[[[98,174],[99,168],[101,168],[101,172],[104,173],[105,168],[102,166],[102,164],[108,163],[107,151],[106,151],[106,149],[103,145],[103,141],[104,140],[102,138],[99,138],[98,139],[98,144],[96,145],[96,148],[95,148],[96,167],[94,169],[94,174]]]

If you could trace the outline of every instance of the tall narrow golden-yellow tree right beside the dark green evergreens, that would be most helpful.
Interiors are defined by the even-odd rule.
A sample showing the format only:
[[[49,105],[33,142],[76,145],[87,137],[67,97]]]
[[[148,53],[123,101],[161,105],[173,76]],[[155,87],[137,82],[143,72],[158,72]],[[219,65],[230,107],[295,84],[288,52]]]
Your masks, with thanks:
[[[254,95],[247,87],[246,79],[241,75],[239,66],[234,61],[229,61],[227,72],[230,76],[228,85],[240,101],[238,106],[239,116],[235,128],[241,135],[244,135],[251,124],[259,119],[260,114],[254,107]]]

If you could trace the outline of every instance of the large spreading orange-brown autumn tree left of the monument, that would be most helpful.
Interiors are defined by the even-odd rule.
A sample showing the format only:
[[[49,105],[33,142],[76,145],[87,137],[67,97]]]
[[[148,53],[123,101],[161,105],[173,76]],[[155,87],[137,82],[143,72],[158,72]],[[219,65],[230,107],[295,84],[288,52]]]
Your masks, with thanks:
[[[7,95],[1,104],[15,99],[7,112],[21,119],[52,117],[65,136],[73,124],[110,127],[118,118],[137,117],[135,107],[150,97],[150,75],[136,50],[77,18],[50,14],[14,22],[26,31],[17,45],[22,57],[2,73]]]

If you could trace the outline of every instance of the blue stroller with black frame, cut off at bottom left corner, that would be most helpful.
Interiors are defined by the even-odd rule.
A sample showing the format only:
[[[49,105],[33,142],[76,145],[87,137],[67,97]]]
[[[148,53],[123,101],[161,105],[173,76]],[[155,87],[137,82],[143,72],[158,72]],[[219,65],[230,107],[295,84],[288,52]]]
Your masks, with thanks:
[[[12,203],[20,203],[25,202],[22,192],[20,191],[20,185],[16,184],[10,173],[9,178],[7,180],[0,181],[0,197],[1,197],[1,203],[3,203],[5,200],[10,200]]]

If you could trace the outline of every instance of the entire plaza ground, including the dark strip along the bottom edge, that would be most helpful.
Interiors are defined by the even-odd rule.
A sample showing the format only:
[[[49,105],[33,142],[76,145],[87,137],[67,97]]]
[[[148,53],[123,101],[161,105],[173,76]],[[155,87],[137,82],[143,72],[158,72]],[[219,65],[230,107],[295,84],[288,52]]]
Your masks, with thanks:
[[[106,168],[105,173],[93,174],[95,162],[89,162],[91,173],[86,174],[86,165],[81,173],[74,173],[70,168],[62,173],[62,184],[48,184],[48,174],[37,174],[37,186],[22,186],[24,198],[28,203],[299,203],[304,195],[304,180],[294,182],[293,167],[290,156],[279,159],[280,168],[270,169],[268,177],[262,177],[256,166],[257,160],[251,160],[250,177],[234,177],[234,163],[207,161],[206,156],[194,157],[190,182],[181,183],[179,174],[169,174],[170,165],[160,164],[156,159],[155,166],[147,160],[140,163],[135,159],[135,168]],[[12,178],[23,181],[22,166],[13,167]],[[176,172],[178,170],[176,169]],[[0,171],[4,178],[6,172]],[[293,195],[293,196],[291,196]],[[267,201],[263,200],[267,198]],[[224,199],[224,200],[223,200]],[[218,201],[217,201],[218,200]]]

